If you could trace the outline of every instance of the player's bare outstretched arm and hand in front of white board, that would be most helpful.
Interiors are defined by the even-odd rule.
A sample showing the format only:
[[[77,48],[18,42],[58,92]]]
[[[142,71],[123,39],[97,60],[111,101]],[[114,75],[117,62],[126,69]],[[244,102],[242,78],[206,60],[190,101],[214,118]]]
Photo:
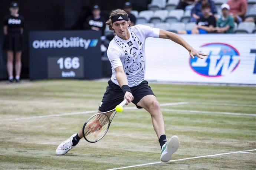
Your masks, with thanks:
[[[194,55],[201,59],[203,59],[203,56],[208,56],[208,54],[204,54],[202,52],[195,50],[182,37],[180,37],[179,35],[177,35],[175,33],[160,29],[159,38],[169,39],[177,44],[182,45],[184,48],[187,49],[187,51],[189,52],[189,55],[192,58],[194,58]]]

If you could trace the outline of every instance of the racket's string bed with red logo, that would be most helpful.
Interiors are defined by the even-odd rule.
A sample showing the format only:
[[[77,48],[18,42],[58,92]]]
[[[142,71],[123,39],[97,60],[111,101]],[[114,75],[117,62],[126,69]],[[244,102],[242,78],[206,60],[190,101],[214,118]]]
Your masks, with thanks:
[[[90,142],[101,139],[107,132],[109,118],[106,114],[99,114],[92,117],[83,130],[85,138]]]

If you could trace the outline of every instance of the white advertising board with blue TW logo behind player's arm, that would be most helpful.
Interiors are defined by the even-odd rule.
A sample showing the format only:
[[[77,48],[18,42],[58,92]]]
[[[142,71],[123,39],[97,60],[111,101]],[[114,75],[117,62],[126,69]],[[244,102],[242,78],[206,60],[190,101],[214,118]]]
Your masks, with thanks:
[[[145,79],[166,82],[256,84],[256,34],[181,35],[193,48],[209,54],[192,59],[173,41],[147,38]]]

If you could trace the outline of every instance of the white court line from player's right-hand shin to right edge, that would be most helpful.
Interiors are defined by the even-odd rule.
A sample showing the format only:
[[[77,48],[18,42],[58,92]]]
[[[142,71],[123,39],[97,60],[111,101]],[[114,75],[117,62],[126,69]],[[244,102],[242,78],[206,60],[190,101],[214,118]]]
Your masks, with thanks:
[[[230,112],[209,112],[199,110],[179,110],[179,109],[161,109],[168,112],[186,112],[186,113],[207,113],[207,114],[221,114],[221,115],[239,115],[239,116],[256,116],[256,114],[250,113],[230,113]]]

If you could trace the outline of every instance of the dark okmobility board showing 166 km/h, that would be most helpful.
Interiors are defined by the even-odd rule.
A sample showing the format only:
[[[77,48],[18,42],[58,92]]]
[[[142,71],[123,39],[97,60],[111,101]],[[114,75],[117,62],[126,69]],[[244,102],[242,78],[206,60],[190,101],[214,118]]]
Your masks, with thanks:
[[[29,33],[30,79],[102,77],[98,31]]]

